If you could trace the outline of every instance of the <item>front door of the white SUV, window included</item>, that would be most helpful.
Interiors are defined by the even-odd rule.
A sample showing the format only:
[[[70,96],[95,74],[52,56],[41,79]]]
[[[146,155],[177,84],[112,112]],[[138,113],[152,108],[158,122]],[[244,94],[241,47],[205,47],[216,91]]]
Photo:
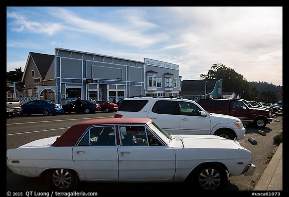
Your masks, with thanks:
[[[179,107],[180,134],[210,134],[210,118],[209,116],[202,116],[202,110],[197,105],[187,101],[179,101]]]

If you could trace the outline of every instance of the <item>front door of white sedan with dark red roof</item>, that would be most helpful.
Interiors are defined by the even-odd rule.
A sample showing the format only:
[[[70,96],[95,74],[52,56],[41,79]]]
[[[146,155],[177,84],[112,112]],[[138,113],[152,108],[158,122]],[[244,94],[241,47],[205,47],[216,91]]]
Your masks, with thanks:
[[[121,136],[121,146],[118,147],[119,180],[173,179],[176,168],[174,148],[157,142],[152,131],[144,125],[137,126],[140,134],[136,138],[146,139],[146,142],[127,145],[125,138],[130,126],[132,125],[118,127]]]

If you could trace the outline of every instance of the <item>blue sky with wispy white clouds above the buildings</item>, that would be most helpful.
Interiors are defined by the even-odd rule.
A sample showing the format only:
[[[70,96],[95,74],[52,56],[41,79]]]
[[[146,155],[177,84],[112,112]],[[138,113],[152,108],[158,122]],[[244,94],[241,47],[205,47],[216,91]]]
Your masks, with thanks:
[[[213,64],[282,86],[282,7],[7,7],[7,72],[55,48],[179,65],[182,80]]]

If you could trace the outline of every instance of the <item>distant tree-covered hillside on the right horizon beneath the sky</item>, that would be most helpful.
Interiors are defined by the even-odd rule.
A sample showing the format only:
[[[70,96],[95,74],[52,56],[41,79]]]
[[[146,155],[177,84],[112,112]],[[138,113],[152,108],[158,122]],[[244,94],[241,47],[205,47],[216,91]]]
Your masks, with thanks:
[[[267,82],[249,82],[250,87],[256,86],[258,90],[258,97],[263,91],[272,91],[275,93],[278,101],[283,101],[283,97],[280,96],[280,91],[283,90],[283,86],[276,86]]]

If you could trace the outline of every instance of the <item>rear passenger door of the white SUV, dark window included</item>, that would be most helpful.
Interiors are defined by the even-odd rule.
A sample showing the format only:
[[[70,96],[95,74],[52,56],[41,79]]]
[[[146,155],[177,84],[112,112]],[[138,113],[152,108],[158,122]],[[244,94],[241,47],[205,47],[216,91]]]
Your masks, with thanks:
[[[162,129],[172,134],[179,134],[180,107],[176,100],[158,100],[148,112],[151,118]]]

